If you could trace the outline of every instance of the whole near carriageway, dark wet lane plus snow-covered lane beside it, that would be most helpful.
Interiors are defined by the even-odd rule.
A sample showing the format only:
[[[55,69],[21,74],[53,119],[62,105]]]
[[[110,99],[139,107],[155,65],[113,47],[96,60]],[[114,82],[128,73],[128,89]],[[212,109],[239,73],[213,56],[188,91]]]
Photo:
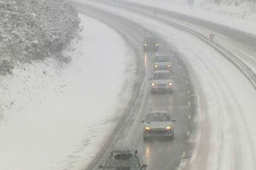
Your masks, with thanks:
[[[120,17],[84,3],[76,5],[80,13],[96,18],[110,26],[131,45],[138,57],[138,79],[141,80],[138,80],[135,85],[138,95],[132,99],[133,102],[128,105],[124,113],[120,113],[123,115],[122,119],[111,138],[106,141],[99,156],[87,167],[88,170],[97,169],[99,164],[106,161],[110,151],[117,143],[127,141],[131,148],[138,149],[143,160],[148,164],[148,170],[174,170],[180,165],[183,165],[180,166],[181,169],[189,170],[240,170],[244,167],[248,170],[256,169],[256,164],[253,161],[256,158],[255,138],[252,136],[253,133],[246,118],[248,116],[247,109],[256,111],[256,108],[251,106],[250,102],[242,102],[243,99],[255,101],[256,92],[250,84],[245,83],[246,88],[244,88],[242,84],[236,83],[236,77],[239,77],[241,82],[247,82],[236,68],[230,68],[230,64],[225,59],[211,49],[207,49],[203,44],[198,47],[196,40],[188,38],[186,35],[176,36],[175,31],[169,31],[168,28],[163,28],[162,30],[166,29],[164,32],[151,31],[157,30],[153,21],[152,23],[145,21],[138,24],[138,21],[132,21],[135,18],[130,20],[128,17]],[[152,96],[150,94],[148,78],[151,77],[151,60],[155,54],[143,54],[141,41],[144,37],[152,34],[158,37],[170,34],[169,37],[172,37],[171,42],[167,35],[166,38],[160,40],[159,53],[170,54],[175,51],[179,54],[173,62],[175,93],[172,95]],[[176,49],[172,45],[175,41],[183,41],[182,47],[178,45],[179,48]],[[218,57],[211,58],[213,54]],[[184,61],[189,64],[185,65]],[[230,70],[225,70],[225,68],[230,68]],[[230,77],[233,73],[236,75]],[[191,85],[191,77],[196,91]],[[242,89],[242,91],[237,91],[238,89]],[[177,120],[173,141],[160,139],[143,142],[143,126],[140,121],[151,110],[168,110]],[[193,120],[195,116],[200,121]],[[212,122],[214,120],[212,116],[216,120],[215,122]],[[256,117],[253,116],[252,119],[256,119]],[[197,134],[200,134],[196,140],[194,138],[196,126],[193,122],[198,123]],[[243,126],[238,127],[239,123],[242,123]],[[219,141],[210,141],[211,136],[217,136],[215,138]],[[190,159],[193,149],[196,149],[197,152]],[[186,161],[187,159],[189,161]],[[192,164],[186,164],[190,161]]]

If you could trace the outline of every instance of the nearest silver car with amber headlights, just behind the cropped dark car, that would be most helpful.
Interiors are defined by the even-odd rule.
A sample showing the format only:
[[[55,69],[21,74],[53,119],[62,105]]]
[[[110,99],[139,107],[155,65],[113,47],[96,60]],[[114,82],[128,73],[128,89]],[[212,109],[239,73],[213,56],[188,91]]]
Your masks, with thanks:
[[[167,111],[151,111],[143,122],[143,139],[150,137],[174,137],[172,116]]]

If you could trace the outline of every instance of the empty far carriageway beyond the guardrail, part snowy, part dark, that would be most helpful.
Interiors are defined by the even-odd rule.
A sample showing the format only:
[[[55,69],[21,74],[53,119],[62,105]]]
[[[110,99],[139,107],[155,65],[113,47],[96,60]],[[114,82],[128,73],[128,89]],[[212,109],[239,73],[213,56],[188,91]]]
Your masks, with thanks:
[[[100,0],[104,2],[105,0]],[[108,3],[125,5],[136,10],[155,13],[157,16],[164,17],[170,21],[192,28],[199,33],[209,37],[209,34],[215,34],[214,41],[227,48],[237,57],[241,58],[256,72],[256,36],[243,31],[236,30],[227,26],[221,26],[210,21],[178,14],[176,12],[164,9],[145,6],[139,3],[128,1],[111,0]]]

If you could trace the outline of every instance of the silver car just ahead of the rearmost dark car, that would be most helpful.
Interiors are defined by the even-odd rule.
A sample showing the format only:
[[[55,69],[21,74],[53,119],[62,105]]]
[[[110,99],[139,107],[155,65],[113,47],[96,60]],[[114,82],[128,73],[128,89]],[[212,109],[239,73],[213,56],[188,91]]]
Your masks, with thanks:
[[[169,55],[157,55],[154,58],[154,70],[169,70],[172,72],[172,62]]]

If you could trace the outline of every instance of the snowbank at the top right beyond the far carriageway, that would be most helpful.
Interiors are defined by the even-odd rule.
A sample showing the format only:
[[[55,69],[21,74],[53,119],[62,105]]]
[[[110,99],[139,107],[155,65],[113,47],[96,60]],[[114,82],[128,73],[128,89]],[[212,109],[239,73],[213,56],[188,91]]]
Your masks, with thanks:
[[[221,4],[218,6],[207,0],[194,0],[194,6],[190,10],[187,0],[128,1],[186,14],[203,20],[209,20],[256,35],[256,3],[241,3],[234,7],[233,4]]]

